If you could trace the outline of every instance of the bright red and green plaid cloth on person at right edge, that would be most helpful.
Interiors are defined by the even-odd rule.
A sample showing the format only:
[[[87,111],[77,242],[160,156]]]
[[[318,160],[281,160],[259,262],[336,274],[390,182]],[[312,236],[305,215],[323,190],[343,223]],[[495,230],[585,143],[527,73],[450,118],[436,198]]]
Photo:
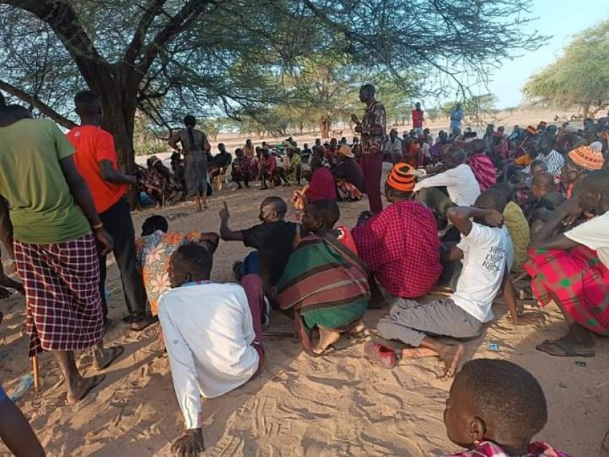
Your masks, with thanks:
[[[557,300],[573,321],[598,335],[609,335],[609,269],[595,251],[530,249],[524,269],[533,293],[545,306]]]

